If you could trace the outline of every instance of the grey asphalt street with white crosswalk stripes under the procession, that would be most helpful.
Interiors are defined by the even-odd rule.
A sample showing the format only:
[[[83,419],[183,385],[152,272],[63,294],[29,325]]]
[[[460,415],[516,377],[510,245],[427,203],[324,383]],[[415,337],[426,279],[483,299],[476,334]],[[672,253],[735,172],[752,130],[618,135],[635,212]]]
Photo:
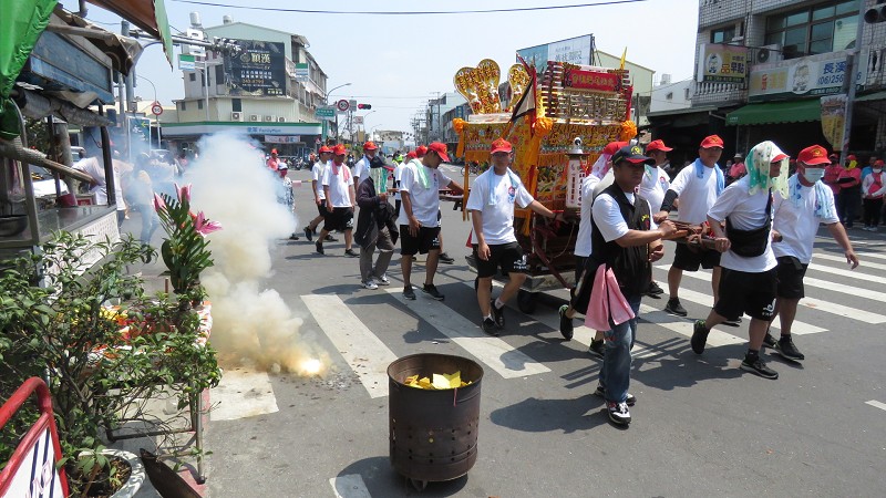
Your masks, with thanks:
[[[301,227],[316,212],[309,187],[296,198]],[[863,266],[849,272],[820,232],[807,273],[812,307],[801,307],[795,330],[806,360],[766,352],[777,381],[739,370],[746,320],[712,333],[698,356],[689,347],[691,321],[661,312],[664,300],[643,299],[630,387],[638,403],[622,429],[593,394],[601,362],[586,352],[590,331],[578,328],[571,341],[557,331],[565,291],[539,297],[532,315],[509,303],[501,340],[475,339],[483,333],[464,262],[470,225],[450,208],[444,249],[456,261],[441,264],[435,279],[443,302],[421,292],[416,301],[402,299],[399,256],[392,286],[365,290],[342,242],[327,243],[327,256],[315,253],[303,234],[276,242],[264,287],[303,319],[301,334],[328,352],[331,365],[309,377],[228,369],[212,393],[233,412],[229,419],[210,415],[207,427],[210,496],[883,496],[883,235],[851,232]],[[656,269],[660,281],[668,248],[664,269]],[[422,281],[422,260],[413,282]],[[683,279],[690,319],[704,318],[711,304],[710,277],[698,277]],[[485,376],[476,464],[419,494],[389,461],[384,369],[422,352],[473,359]],[[251,411],[243,416],[238,408]]]

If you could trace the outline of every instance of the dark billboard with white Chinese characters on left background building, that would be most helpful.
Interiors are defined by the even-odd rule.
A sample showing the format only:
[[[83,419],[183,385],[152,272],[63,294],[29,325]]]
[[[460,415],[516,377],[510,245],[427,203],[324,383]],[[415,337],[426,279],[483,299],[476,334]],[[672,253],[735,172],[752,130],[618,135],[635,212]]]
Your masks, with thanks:
[[[225,80],[230,95],[286,95],[286,48],[284,43],[231,40],[240,46],[236,55],[225,54]]]

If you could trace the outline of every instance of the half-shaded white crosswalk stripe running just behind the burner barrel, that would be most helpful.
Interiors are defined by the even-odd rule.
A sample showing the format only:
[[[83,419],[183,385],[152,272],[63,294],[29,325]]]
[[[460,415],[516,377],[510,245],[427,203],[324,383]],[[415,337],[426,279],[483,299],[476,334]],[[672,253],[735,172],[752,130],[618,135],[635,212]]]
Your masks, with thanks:
[[[445,304],[424,297],[410,301],[403,299],[400,289],[389,288],[387,290],[416,317],[430,323],[503,377],[514,378],[550,372],[550,369],[517,351],[505,341],[484,334],[476,323],[454,312]]]

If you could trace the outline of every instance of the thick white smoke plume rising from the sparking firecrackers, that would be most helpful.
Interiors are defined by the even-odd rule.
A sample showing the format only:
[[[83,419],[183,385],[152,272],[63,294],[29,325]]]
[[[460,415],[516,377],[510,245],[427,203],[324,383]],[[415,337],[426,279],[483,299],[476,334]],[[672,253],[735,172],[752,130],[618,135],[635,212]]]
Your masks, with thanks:
[[[279,178],[246,136],[207,136],[199,149],[184,178],[193,185],[192,210],[223,227],[208,236],[215,266],[200,279],[213,304],[213,345],[224,362],[316,373],[302,365],[328,364],[327,354],[300,335],[302,320],[276,290],[260,289],[271,272],[274,241],[298,226],[277,201]]]

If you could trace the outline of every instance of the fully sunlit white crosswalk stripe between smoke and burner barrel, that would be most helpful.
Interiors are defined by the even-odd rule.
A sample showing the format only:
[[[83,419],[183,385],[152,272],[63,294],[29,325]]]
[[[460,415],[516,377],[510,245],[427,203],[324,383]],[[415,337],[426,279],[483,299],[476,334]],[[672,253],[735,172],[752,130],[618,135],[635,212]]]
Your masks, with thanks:
[[[396,356],[334,294],[301,297],[323,333],[359,377],[370,397],[388,395],[388,365]]]

